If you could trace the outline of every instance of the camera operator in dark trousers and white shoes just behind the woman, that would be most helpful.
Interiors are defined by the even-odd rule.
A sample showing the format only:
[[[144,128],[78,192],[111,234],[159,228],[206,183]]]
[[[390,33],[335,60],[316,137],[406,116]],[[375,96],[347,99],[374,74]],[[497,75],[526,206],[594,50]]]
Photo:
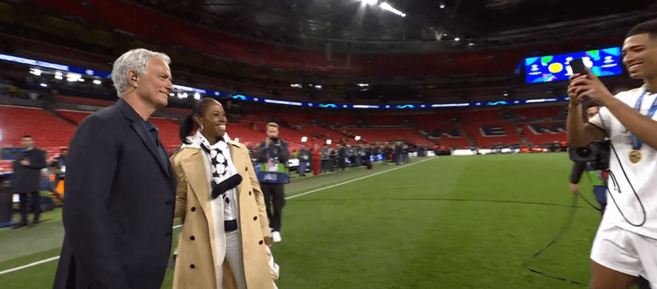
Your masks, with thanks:
[[[287,143],[279,137],[279,125],[267,124],[267,139],[258,146],[260,173],[258,181],[265,196],[265,205],[269,225],[272,228],[274,242],[281,241],[281,216],[285,206],[285,183],[289,182],[287,161],[289,150]],[[272,206],[274,212],[272,212]]]

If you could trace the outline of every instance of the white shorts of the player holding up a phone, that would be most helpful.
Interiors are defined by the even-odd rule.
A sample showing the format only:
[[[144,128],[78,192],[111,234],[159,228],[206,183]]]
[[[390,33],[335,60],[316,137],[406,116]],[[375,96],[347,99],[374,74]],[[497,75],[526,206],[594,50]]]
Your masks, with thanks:
[[[643,276],[657,288],[657,240],[653,238],[603,221],[593,240],[591,260],[621,273]]]

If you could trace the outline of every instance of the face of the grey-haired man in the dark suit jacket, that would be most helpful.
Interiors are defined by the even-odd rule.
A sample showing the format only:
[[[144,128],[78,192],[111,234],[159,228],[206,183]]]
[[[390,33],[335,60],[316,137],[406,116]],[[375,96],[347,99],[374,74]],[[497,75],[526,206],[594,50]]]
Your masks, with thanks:
[[[134,73],[129,71],[129,74]],[[129,75],[130,79],[131,75]],[[153,57],[146,67],[146,74],[137,76],[135,92],[144,101],[153,104],[156,109],[166,107],[169,93],[173,89],[171,70],[162,59]]]

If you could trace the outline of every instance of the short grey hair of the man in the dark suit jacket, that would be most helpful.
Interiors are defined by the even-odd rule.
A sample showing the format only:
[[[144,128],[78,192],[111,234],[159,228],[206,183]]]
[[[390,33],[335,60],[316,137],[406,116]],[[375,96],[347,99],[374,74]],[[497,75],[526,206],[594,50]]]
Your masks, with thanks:
[[[123,53],[112,66],[112,81],[116,94],[120,98],[128,89],[128,77],[126,76],[128,70],[135,70],[138,75],[145,75],[146,68],[153,58],[159,58],[166,64],[171,64],[171,59],[164,53],[150,51],[148,49],[133,49],[127,53]]]

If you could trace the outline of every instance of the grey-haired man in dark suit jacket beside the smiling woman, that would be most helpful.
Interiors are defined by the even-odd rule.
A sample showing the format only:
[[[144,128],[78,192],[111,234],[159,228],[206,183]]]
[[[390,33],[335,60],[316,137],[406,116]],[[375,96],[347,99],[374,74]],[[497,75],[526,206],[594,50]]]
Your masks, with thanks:
[[[55,289],[159,289],[171,249],[176,176],[148,121],[172,90],[170,59],[146,49],[114,62],[119,100],[70,141],[64,245]]]

